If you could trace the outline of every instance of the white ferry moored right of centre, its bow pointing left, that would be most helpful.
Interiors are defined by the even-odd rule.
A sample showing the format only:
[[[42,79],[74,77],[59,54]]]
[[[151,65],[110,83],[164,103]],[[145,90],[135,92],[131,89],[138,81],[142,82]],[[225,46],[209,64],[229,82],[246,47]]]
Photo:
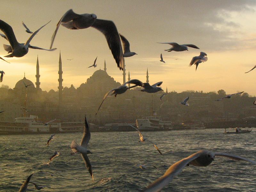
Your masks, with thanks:
[[[161,116],[146,116],[136,119],[136,126],[141,131],[164,131],[172,128],[172,122]]]

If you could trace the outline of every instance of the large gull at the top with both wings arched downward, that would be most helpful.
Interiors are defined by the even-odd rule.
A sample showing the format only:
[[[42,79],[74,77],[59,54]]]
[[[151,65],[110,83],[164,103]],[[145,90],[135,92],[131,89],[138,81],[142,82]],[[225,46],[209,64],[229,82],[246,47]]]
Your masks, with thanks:
[[[60,24],[69,29],[85,29],[89,27],[96,28],[107,39],[108,47],[116,60],[117,67],[121,70],[124,68],[123,50],[116,25],[113,21],[96,19],[95,14],[76,14],[72,9],[69,9],[60,19],[57,27],[52,35],[50,49],[60,27]]]

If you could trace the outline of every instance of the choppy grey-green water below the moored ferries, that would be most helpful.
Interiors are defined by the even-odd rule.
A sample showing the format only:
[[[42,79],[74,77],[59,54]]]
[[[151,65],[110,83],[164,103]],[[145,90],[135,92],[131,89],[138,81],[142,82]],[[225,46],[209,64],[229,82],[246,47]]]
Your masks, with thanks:
[[[170,165],[198,150],[234,153],[256,160],[256,131],[222,134],[223,130],[144,132],[163,152],[136,132],[91,133],[88,149],[94,182],[80,154],[70,155],[72,140],[80,143],[82,133],[56,134],[46,147],[50,134],[0,136],[0,191],[18,191],[31,173],[31,181],[54,189],[42,191],[141,191],[162,176]],[[55,150],[61,155],[46,163]],[[151,163],[141,170],[136,164]],[[57,172],[53,177],[46,172]],[[27,191],[36,191],[29,184]],[[207,167],[188,166],[162,191],[256,191],[256,166],[247,162],[216,157]]]

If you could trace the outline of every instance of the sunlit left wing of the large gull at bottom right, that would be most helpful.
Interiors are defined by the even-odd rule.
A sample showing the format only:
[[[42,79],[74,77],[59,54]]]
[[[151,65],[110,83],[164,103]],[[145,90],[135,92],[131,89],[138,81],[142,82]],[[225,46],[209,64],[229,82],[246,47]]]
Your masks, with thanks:
[[[160,191],[162,188],[167,186],[175,176],[177,176],[182,169],[189,164],[191,161],[196,159],[201,155],[202,152],[197,152],[192,154],[191,156],[188,156],[184,159],[181,159],[180,161],[176,162],[175,164],[172,164],[169,169],[164,173],[164,175],[160,178],[158,178],[155,182],[150,184],[148,188],[144,192],[156,192]]]

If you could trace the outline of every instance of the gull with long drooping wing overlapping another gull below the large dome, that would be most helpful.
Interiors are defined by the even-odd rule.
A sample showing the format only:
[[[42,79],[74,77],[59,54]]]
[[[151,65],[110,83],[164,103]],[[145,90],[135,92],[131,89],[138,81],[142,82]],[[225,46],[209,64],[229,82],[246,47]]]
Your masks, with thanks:
[[[131,87],[127,87],[126,84],[129,84],[129,83],[130,83],[130,84],[135,84],[135,85],[133,85],[133,86],[131,86]],[[125,82],[125,83],[122,84],[120,87],[117,87],[117,88],[115,88],[115,89],[110,90],[110,91],[107,92],[106,95],[104,96],[102,102],[100,103],[100,107],[101,107],[103,101],[108,97],[108,95],[109,95],[110,93],[111,93],[110,95],[115,95],[115,97],[116,97],[116,95],[120,95],[120,94],[126,92],[128,89],[131,89],[131,88],[136,87],[136,86],[143,86],[143,83],[142,83],[140,80],[138,80],[138,79],[132,79],[132,80],[130,80],[130,81]],[[97,110],[97,112],[96,112],[95,115],[97,115],[98,111],[100,110],[100,107],[98,108],[98,110]]]

